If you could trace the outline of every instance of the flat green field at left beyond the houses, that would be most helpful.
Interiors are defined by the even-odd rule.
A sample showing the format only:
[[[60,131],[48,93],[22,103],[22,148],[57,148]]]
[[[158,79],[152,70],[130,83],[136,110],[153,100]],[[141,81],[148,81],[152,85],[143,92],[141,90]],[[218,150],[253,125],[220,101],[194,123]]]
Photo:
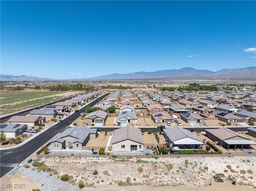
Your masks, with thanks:
[[[65,98],[64,96],[58,96],[56,94],[65,92],[42,92],[42,91],[1,91],[0,93],[0,111],[1,114],[17,112],[26,108],[31,108],[35,106],[40,106],[49,102],[60,100]],[[50,98],[42,98],[44,96],[56,95]],[[34,98],[39,98],[36,100],[30,100]],[[29,101],[28,101],[29,100]],[[19,104],[13,104],[14,102],[24,101]],[[7,104],[4,105],[3,104]]]

